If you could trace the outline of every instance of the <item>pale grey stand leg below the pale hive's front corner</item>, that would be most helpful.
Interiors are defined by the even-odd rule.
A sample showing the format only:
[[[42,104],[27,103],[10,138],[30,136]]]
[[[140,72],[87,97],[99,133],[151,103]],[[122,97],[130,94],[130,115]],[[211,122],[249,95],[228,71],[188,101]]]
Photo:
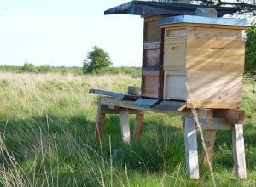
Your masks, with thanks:
[[[184,137],[186,165],[189,177],[193,179],[199,179],[195,120],[191,117],[185,117]]]

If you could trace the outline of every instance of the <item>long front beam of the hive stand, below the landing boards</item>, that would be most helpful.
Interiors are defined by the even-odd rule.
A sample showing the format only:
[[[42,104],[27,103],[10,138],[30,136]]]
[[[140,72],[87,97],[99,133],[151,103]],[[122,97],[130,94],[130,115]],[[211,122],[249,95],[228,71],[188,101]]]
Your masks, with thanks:
[[[156,108],[146,108],[133,105],[133,101],[120,101],[119,99],[109,98],[109,97],[101,97],[100,104],[101,105],[116,105],[122,108],[127,109],[135,109],[138,111],[154,111],[158,113],[166,113],[178,116],[189,116],[194,117],[192,111],[190,109],[183,109],[183,111],[170,111],[170,110],[159,110]],[[211,109],[197,109],[197,115],[199,119],[209,119],[212,116],[213,111]]]

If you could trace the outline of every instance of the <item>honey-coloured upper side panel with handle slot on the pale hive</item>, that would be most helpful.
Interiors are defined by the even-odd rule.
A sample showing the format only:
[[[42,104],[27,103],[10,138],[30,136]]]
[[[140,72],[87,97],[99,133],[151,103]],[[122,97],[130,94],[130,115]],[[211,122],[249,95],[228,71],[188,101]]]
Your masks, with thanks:
[[[243,41],[189,38],[186,42],[186,69],[195,71],[244,71]]]

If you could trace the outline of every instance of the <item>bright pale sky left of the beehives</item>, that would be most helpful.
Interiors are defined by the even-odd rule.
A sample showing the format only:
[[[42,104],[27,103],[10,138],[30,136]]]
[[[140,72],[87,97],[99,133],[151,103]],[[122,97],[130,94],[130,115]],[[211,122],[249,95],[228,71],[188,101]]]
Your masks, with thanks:
[[[143,19],[104,15],[129,0],[0,0],[0,65],[82,66],[93,46],[141,66]]]

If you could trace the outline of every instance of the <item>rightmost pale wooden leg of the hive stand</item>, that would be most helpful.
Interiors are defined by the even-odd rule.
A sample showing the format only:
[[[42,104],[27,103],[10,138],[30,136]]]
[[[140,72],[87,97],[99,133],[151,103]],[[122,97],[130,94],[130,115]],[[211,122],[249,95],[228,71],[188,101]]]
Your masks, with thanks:
[[[235,124],[232,129],[233,154],[235,162],[236,177],[241,179],[247,178],[245,148],[243,139],[243,126]]]

